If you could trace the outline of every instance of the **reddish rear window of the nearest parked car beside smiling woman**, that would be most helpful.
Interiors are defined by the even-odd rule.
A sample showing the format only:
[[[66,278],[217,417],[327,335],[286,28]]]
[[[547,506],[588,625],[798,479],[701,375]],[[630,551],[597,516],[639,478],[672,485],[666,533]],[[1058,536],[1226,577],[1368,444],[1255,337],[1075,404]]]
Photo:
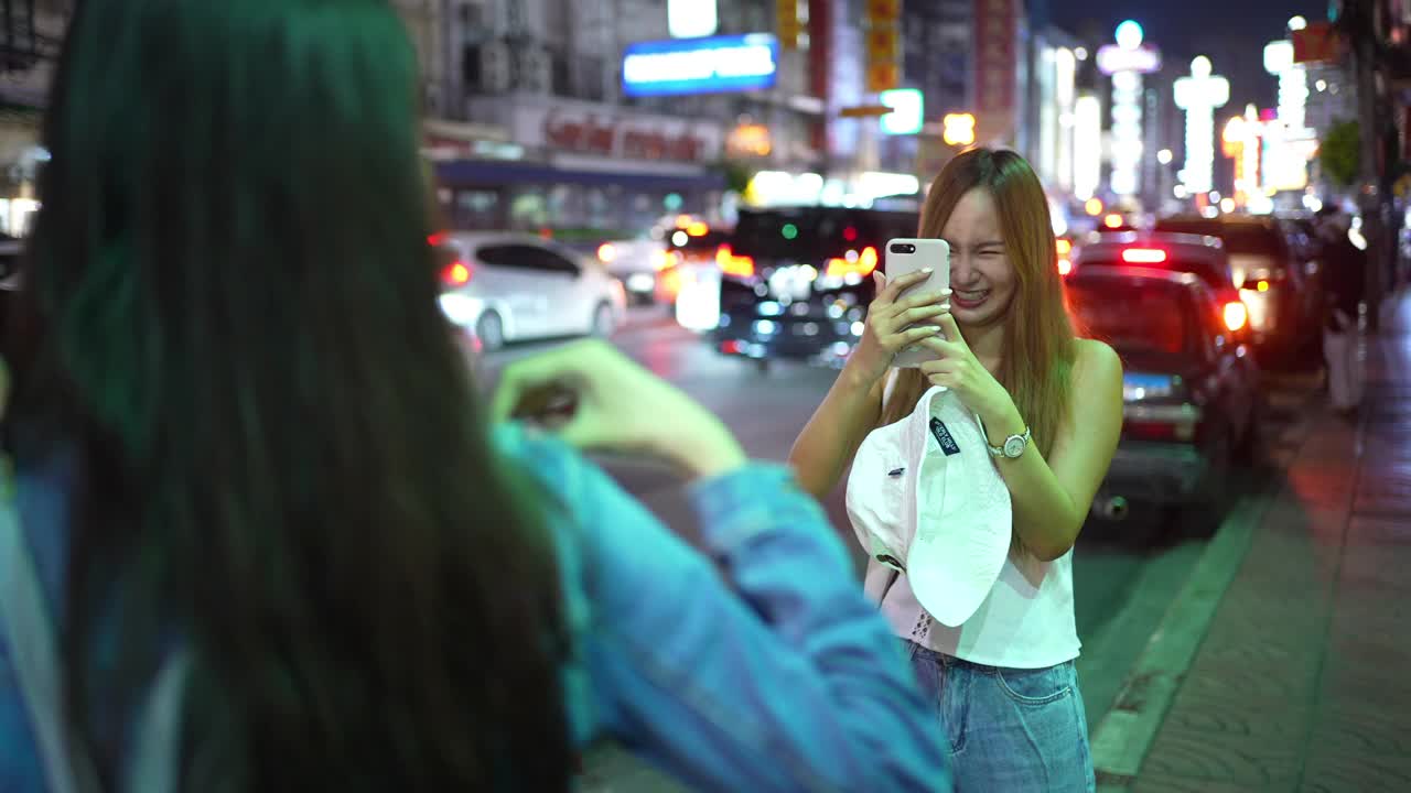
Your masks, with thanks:
[[[1077,278],[1067,284],[1074,320],[1120,356],[1185,356],[1194,333],[1184,286],[1141,278]]]

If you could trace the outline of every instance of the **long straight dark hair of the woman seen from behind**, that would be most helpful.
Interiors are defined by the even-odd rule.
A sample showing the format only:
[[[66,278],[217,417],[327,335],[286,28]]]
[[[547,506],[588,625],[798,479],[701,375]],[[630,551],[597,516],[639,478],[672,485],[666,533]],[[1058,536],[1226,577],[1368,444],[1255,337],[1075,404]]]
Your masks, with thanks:
[[[176,636],[188,789],[567,786],[553,543],[437,309],[418,86],[387,0],[69,28],[7,423],[79,460],[65,680],[106,777]]]

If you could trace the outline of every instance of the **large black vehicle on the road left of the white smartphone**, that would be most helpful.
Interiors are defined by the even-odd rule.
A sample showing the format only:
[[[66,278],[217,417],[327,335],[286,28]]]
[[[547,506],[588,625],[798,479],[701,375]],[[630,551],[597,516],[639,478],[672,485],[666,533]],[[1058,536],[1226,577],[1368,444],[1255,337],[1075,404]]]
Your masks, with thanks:
[[[717,349],[761,370],[775,358],[840,364],[862,333],[886,241],[914,237],[917,222],[895,209],[741,210],[717,251]]]

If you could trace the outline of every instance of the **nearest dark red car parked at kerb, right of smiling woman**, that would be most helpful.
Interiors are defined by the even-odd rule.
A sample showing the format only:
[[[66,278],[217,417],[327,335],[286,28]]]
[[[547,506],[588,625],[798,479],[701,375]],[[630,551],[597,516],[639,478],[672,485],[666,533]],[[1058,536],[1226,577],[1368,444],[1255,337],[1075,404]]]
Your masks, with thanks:
[[[1235,464],[1257,446],[1253,356],[1191,272],[1085,265],[1065,286],[1074,319],[1123,361],[1122,439],[1095,512],[1116,516],[1136,501],[1208,521],[1225,505]]]

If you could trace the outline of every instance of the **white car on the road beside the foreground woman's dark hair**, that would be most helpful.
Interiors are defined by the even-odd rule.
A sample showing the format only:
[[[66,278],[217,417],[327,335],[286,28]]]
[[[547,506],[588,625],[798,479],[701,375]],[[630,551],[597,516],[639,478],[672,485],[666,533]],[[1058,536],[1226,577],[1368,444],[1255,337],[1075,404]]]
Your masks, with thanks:
[[[529,234],[447,231],[432,237],[440,306],[485,351],[505,341],[610,336],[626,313],[622,284],[591,257]]]

